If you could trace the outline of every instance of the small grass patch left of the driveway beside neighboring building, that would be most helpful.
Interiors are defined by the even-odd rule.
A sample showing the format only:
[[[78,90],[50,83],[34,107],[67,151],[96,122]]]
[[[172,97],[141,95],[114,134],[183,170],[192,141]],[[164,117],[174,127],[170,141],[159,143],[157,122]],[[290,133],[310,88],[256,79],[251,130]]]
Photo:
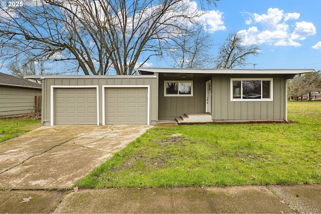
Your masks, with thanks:
[[[0,119],[0,142],[22,135],[30,130],[19,127],[40,123],[41,120],[31,117]]]

